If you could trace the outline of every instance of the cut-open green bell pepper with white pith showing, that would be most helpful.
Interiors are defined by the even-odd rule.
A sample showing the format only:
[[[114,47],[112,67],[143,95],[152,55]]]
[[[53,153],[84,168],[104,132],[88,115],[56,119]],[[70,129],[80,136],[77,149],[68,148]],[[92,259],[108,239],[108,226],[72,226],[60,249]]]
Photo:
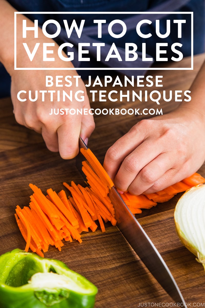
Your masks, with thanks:
[[[1,308],[92,308],[97,287],[65,263],[20,249],[0,256]]]

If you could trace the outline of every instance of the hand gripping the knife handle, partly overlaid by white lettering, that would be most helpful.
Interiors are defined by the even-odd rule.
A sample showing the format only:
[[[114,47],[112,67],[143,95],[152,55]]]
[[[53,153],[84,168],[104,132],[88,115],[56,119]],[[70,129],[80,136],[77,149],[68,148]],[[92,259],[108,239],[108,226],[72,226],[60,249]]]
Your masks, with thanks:
[[[24,17],[25,18],[25,17]],[[30,26],[33,25],[31,21]],[[26,43],[30,50],[33,50],[33,33],[28,35],[32,37],[26,39]],[[17,40],[18,42],[18,40]],[[31,62],[25,54],[25,49],[21,40],[19,39],[19,46],[17,47],[17,67],[44,67],[48,70],[14,70],[13,66],[8,66],[7,70],[11,75],[11,99],[14,106],[14,115],[16,121],[19,124],[25,125],[27,128],[31,128],[38,133],[41,133],[47,148],[53,152],[60,152],[60,155],[64,159],[71,159],[77,155],[79,136],[86,142],[94,129],[93,115],[77,114],[77,109],[83,113],[83,109],[90,108],[89,99],[86,93],[85,84],[82,79],[73,78],[78,76],[75,70],[49,70],[49,67],[73,67],[71,62],[65,62],[58,56],[58,45],[55,43],[55,47],[50,47],[53,50],[52,55],[48,57],[55,58],[55,61],[42,61],[42,47],[43,43],[54,43],[53,39],[47,39],[42,34],[42,30],[38,31],[38,43],[40,43],[37,52]],[[65,53],[63,53],[66,57]],[[46,87],[46,75],[53,76],[53,86]],[[56,86],[56,75],[62,76],[60,78],[62,87]],[[66,87],[65,76],[71,76],[69,79],[72,82],[72,86]],[[76,85],[76,81],[78,85]],[[21,99],[26,101],[21,102],[17,98],[18,91],[24,90],[26,93],[20,95]],[[63,101],[63,90],[70,95],[72,92],[72,101],[65,96],[65,102]],[[76,91],[83,91],[84,93],[78,93],[77,99],[75,98]],[[37,91],[38,99],[36,101],[30,101],[29,91],[31,91],[32,99],[35,98],[35,91]],[[39,91],[47,91],[45,93],[45,101],[42,101],[42,94]],[[48,91],[53,92],[53,101]],[[58,101],[57,91],[60,92],[60,101]],[[85,98],[82,100],[81,97]],[[79,100],[79,101],[78,101]],[[75,109],[76,114],[70,114],[69,111],[66,115],[65,109]],[[54,115],[59,112],[58,115]],[[62,111],[64,114],[60,114]],[[49,115],[53,110],[53,114]],[[73,113],[73,111],[72,111]]]

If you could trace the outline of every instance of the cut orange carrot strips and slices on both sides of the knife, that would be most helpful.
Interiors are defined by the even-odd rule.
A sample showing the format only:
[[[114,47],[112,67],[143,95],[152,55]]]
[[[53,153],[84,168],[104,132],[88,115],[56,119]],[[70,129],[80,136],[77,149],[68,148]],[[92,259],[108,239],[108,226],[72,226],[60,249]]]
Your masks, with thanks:
[[[86,159],[82,162],[82,171],[87,179],[86,187],[76,185],[73,181],[70,185],[64,182],[63,185],[69,191],[68,196],[65,190],[56,193],[51,188],[44,195],[36,185],[29,184],[33,190],[29,206],[21,209],[17,205],[14,214],[26,241],[25,251],[30,248],[44,257],[49,245],[61,251],[63,240],[77,240],[81,243],[81,233],[88,232],[89,229],[94,232],[97,221],[102,232],[105,232],[104,223],[110,221],[112,225],[116,225],[115,210],[108,195],[114,184],[90,149],[81,149],[81,153]],[[121,197],[130,211],[137,214],[142,209],[150,209],[157,202],[168,201],[175,194],[204,182],[205,179],[195,173],[157,193],[134,196],[126,192]]]

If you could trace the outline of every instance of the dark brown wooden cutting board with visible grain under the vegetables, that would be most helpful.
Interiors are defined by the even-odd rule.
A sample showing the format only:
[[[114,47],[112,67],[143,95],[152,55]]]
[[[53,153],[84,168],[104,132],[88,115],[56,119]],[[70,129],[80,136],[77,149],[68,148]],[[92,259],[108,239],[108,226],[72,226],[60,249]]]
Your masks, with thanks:
[[[163,75],[163,88],[157,88],[158,91],[185,91],[189,89],[203,60],[204,55],[195,56],[193,71],[151,71],[149,75]],[[190,59],[183,59],[182,66],[186,67],[187,63],[190,63]],[[109,75],[109,72],[106,74]],[[95,90],[102,89],[100,86],[95,87]],[[106,88],[108,91],[111,89]],[[122,90],[124,93],[129,89],[132,90],[131,87],[115,87],[116,91]],[[152,87],[148,91],[155,89]],[[99,103],[96,97],[96,102],[92,103],[90,94],[89,97],[93,108],[159,107],[150,100],[147,103],[127,102],[126,99],[116,103]],[[166,113],[177,104],[174,100],[162,102],[160,108]],[[103,162],[109,146],[142,119],[143,115],[95,116],[96,129],[89,140],[89,147]],[[205,176],[204,165],[199,172]],[[28,184],[36,184],[43,192],[50,187],[59,192],[63,188],[62,182],[71,180],[83,183],[75,167],[75,160],[63,160],[58,153],[49,152],[40,135],[16,123],[10,98],[1,99],[0,254],[15,248],[25,248],[14,212],[17,204],[21,207],[29,204],[32,192]],[[205,273],[203,266],[183,247],[175,232],[173,213],[180,196],[178,194],[170,201],[158,204],[156,208],[143,210],[137,218],[167,263],[185,301],[189,307],[195,307],[196,303],[205,302]],[[66,242],[61,252],[50,247],[45,257],[65,262],[72,270],[92,281],[99,290],[96,308],[151,307],[159,303],[172,306],[172,299],[148,272],[117,227],[108,223],[106,226],[105,233],[98,228],[94,233],[83,234],[81,244]]]

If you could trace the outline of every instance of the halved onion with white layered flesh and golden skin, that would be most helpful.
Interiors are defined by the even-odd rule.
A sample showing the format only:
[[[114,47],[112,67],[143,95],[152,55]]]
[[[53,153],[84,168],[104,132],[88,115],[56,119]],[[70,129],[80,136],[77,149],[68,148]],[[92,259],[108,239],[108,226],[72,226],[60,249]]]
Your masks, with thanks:
[[[205,269],[205,185],[188,189],[176,204],[174,219],[182,244]]]

